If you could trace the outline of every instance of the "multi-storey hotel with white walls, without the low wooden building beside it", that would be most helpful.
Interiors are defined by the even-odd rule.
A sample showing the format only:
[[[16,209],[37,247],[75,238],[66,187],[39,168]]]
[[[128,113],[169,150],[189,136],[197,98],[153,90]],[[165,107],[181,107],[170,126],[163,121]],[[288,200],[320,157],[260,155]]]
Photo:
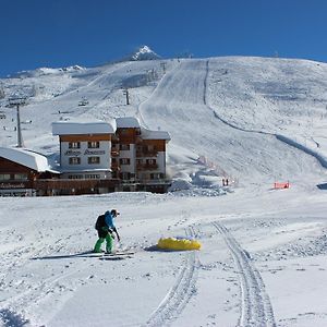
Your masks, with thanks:
[[[60,179],[70,180],[70,194],[162,193],[170,185],[166,177],[169,134],[144,129],[133,117],[110,122],[59,121],[52,123],[52,134],[59,135]],[[62,190],[63,185],[59,189]]]

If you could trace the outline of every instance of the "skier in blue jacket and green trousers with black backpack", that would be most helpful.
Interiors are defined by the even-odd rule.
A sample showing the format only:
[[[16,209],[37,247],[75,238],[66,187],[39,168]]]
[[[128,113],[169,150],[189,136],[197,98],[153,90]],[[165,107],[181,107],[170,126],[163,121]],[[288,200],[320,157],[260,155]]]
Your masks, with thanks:
[[[96,230],[98,231],[99,239],[97,240],[94,252],[101,252],[101,245],[106,240],[106,253],[111,253],[112,251],[112,240],[114,239],[114,234],[117,235],[118,241],[120,241],[119,233],[114,226],[114,218],[120,215],[119,211],[112,209],[111,211],[106,211],[105,215],[100,215],[96,222]]]

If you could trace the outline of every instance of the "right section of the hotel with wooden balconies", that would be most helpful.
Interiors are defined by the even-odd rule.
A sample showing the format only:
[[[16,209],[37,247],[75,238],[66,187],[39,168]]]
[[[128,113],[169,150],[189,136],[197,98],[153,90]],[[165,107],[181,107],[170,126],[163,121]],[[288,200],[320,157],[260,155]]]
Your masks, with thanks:
[[[118,118],[112,169],[123,191],[166,192],[170,185],[166,177],[166,143],[168,132],[150,131],[135,118]]]

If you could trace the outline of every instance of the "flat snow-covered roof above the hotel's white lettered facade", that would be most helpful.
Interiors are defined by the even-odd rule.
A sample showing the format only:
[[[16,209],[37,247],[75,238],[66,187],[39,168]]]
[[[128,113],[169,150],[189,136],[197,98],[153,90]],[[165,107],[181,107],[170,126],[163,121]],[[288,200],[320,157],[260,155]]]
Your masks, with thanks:
[[[105,122],[101,120],[74,119],[66,121],[56,121],[52,123],[53,135],[82,135],[82,134],[113,134],[116,132],[116,121]]]

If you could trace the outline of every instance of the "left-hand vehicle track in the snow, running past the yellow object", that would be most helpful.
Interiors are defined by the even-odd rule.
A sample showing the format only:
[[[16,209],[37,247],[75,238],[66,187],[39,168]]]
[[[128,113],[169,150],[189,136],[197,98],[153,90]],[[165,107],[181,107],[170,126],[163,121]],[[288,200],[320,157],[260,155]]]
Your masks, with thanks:
[[[194,235],[192,227],[189,227],[186,234],[190,237]],[[197,268],[196,251],[187,252],[175,283],[144,326],[167,326],[173,319],[178,318],[191,296],[196,292]]]

